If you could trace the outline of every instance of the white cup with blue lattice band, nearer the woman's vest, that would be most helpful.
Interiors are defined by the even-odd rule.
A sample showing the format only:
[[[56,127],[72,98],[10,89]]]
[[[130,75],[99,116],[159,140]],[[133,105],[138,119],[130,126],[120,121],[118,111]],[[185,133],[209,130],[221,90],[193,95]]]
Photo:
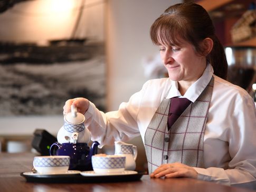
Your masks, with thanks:
[[[91,161],[92,168],[96,174],[121,173],[125,170],[126,157],[119,155],[93,155]]]

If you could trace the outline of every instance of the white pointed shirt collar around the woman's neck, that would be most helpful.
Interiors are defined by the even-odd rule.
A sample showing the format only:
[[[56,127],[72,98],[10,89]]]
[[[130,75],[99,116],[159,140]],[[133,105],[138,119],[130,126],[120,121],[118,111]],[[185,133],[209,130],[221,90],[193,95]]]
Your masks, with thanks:
[[[191,100],[193,103],[195,100],[201,95],[205,87],[210,82],[213,76],[213,68],[211,64],[207,64],[206,68],[204,69],[203,75],[196,80],[186,91],[184,96],[179,93],[178,90],[178,82],[172,81],[169,93],[166,98],[173,98],[173,97],[185,97]]]

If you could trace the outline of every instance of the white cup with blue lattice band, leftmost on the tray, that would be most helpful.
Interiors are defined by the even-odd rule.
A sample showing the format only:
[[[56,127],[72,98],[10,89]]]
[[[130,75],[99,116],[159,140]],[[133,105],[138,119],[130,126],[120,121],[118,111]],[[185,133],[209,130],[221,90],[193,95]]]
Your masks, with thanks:
[[[39,174],[66,173],[69,164],[69,156],[36,156],[33,161],[33,166]]]

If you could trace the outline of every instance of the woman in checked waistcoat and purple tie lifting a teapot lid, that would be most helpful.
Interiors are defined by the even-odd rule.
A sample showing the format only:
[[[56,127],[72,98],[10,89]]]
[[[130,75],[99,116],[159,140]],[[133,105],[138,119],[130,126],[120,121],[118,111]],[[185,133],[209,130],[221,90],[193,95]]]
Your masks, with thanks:
[[[150,177],[253,187],[254,102],[244,89],[224,80],[224,49],[205,9],[194,3],[170,6],[153,23],[150,35],[169,78],[149,80],[115,112],[102,113],[77,98],[66,102],[63,113],[71,104],[77,106],[92,140],[101,146],[141,135]]]

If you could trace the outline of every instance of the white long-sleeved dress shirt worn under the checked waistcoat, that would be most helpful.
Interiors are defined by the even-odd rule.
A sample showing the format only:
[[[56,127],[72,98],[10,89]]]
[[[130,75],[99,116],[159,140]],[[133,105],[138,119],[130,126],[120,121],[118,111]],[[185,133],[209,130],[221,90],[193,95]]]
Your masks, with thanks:
[[[207,65],[203,75],[188,88],[184,96],[177,82],[169,78],[148,80],[143,88],[121,103],[114,112],[100,112],[94,104],[85,114],[92,140],[100,146],[115,140],[129,140],[146,129],[166,93],[167,98],[186,97],[195,102],[210,82],[213,69]],[[198,179],[225,185],[256,186],[256,109],[251,96],[241,87],[214,76],[213,94],[204,134],[204,166],[194,169]]]

